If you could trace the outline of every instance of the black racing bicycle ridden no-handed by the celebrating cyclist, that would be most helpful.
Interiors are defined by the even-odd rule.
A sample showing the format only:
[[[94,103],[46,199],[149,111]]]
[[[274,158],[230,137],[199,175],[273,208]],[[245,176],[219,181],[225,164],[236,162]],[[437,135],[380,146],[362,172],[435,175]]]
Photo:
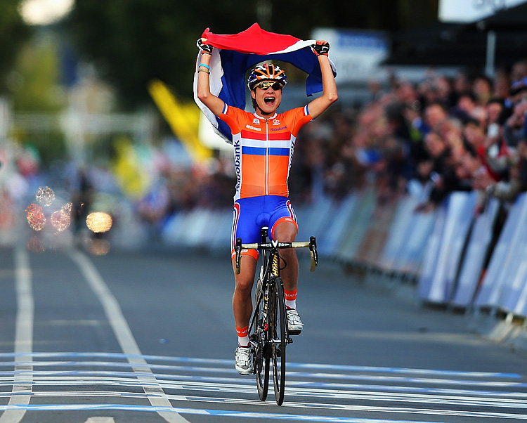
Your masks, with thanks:
[[[254,312],[249,323],[249,341],[253,350],[253,372],[261,401],[266,401],[269,387],[270,365],[273,366],[275,399],[282,405],[285,392],[285,347],[292,343],[287,328],[284,285],[280,271],[287,266],[280,257],[280,249],[308,247],[311,254],[311,271],[318,266],[316,239],[306,242],[268,241],[268,228],[261,229],[261,242],[235,244],[235,272],[240,273],[242,249],[259,249],[262,257],[259,278],[256,280]]]

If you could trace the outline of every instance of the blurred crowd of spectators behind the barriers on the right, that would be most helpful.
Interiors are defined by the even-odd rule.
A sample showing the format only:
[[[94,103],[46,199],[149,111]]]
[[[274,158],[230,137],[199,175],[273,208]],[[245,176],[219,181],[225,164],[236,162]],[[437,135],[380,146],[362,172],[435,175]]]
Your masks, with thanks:
[[[304,127],[292,195],[310,199],[321,178],[320,189],[335,198],[373,180],[379,200],[417,182],[429,187],[421,211],[454,190],[478,190],[476,211],[489,195],[512,201],[527,188],[526,111],[527,60],[492,79],[470,71],[431,71],[417,84],[393,77],[360,107],[337,106]]]

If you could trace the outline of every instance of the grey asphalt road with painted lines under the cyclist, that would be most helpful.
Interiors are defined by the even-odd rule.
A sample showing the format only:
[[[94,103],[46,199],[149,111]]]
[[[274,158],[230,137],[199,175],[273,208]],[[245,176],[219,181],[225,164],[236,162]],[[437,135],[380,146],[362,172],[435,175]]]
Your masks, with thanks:
[[[228,252],[0,247],[0,286],[0,423],[527,419],[524,351],[327,261],[301,259],[281,407],[234,370]]]

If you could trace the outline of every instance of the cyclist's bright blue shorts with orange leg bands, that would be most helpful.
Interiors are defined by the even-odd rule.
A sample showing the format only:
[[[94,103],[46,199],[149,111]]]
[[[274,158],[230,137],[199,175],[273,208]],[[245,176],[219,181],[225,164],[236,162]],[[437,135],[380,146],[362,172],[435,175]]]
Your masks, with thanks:
[[[234,256],[236,238],[242,238],[244,244],[261,242],[261,228],[267,226],[271,240],[278,223],[291,222],[297,226],[297,216],[287,197],[279,195],[263,195],[260,197],[240,198],[234,203],[233,230],[230,236],[231,252]],[[242,254],[249,254],[258,259],[256,249],[242,250]]]

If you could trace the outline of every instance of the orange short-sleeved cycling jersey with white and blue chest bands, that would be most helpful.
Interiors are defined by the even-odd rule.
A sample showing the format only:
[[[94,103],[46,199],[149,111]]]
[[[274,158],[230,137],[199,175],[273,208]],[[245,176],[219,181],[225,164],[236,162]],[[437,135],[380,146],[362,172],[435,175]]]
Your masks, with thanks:
[[[260,195],[289,197],[287,179],[299,129],[311,122],[308,107],[268,119],[225,105],[219,116],[233,133],[234,200]]]

